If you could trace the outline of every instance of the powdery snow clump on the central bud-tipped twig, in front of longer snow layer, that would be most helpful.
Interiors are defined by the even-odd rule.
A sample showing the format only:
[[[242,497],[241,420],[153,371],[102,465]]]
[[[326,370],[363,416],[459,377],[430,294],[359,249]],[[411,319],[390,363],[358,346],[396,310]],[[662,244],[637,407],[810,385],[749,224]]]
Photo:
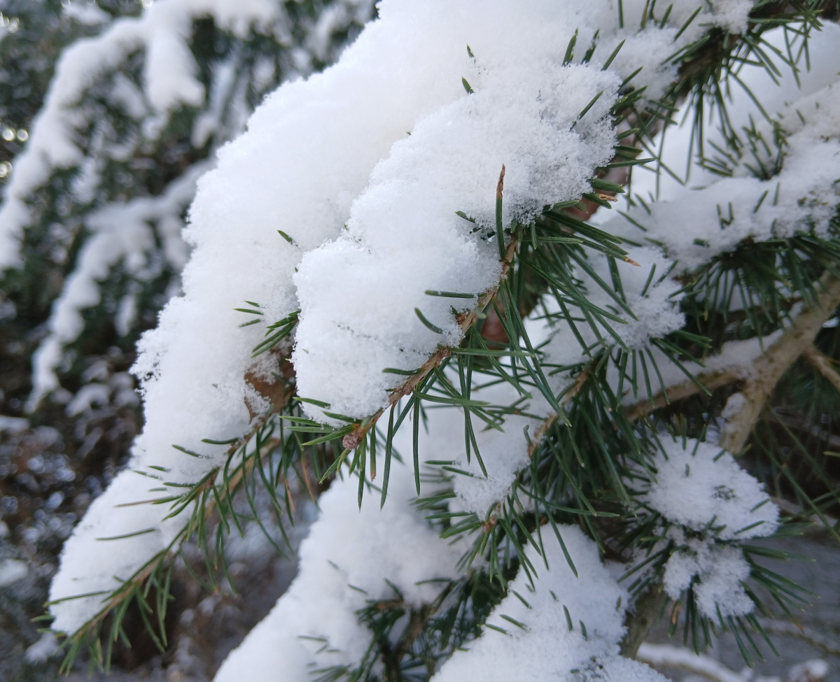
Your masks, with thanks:
[[[550,23],[543,28],[552,26],[559,30]],[[438,344],[459,343],[454,311],[474,307],[475,299],[423,292],[479,293],[498,281],[496,239],[487,234],[502,164],[507,225],[528,223],[544,204],[579,197],[596,166],[612,157],[606,115],[617,76],[560,66],[559,45],[548,45],[553,55],[502,53],[501,63],[488,60],[483,77],[470,74],[475,94],[396,143],[354,202],[347,231],[303,258],[295,277],[302,312],[292,355],[303,396],[327,401],[332,412],[365,417],[384,407],[386,389],[400,382],[383,369],[416,369]],[[459,210],[475,223],[456,215]],[[486,229],[476,231],[476,223]],[[442,331],[428,328],[415,309]]]

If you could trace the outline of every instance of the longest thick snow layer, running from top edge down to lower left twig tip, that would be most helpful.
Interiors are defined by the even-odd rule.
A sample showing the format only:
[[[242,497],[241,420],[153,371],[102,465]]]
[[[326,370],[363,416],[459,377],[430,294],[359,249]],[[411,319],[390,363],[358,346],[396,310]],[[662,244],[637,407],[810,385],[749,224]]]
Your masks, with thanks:
[[[523,14],[516,3],[500,2],[495,13],[485,5],[470,12],[467,2],[449,7],[385,3],[381,19],[337,66],[269,97],[250,119],[249,131],[223,148],[217,169],[199,182],[187,231],[195,249],[183,275],[184,296],[165,308],[159,328],[139,344],[136,371],[144,377],[146,422],[132,469],[164,466],[170,470],[166,480],[189,483],[223,460],[223,448],[202,439],[225,440],[247,431],[244,375],[262,337],[258,325],[239,327],[244,316],[234,308],[260,302],[272,321],[297,309],[291,275],[302,254],[339,234],[351,202],[393,142],[464,96],[467,41],[485,46],[486,55],[498,44],[500,59],[511,49],[507,30]],[[436,49],[429,50],[430,44]],[[278,228],[297,246],[281,239]],[[257,396],[251,391],[250,397]],[[206,459],[182,454],[172,444]],[[113,541],[118,551],[102,554],[102,572],[93,574],[88,559],[98,553],[96,537],[145,530],[148,514],[160,527],[167,513],[163,505],[117,507],[160,496],[149,492],[155,481],[132,471],[118,480],[88,512],[96,522],[82,524],[66,543],[53,598],[113,589],[115,574],[134,573],[182,526],[181,519],[171,519],[162,531]],[[96,598],[56,604],[54,627],[72,632],[99,606]]]

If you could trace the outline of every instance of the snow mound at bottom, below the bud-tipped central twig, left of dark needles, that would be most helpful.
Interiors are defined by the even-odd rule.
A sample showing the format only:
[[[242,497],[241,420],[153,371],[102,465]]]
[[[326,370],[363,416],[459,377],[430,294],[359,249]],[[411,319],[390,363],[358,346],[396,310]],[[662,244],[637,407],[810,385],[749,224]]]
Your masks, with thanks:
[[[358,488],[349,476],[321,496],[321,517],[301,545],[297,578],[228,656],[217,682],[307,682],[313,669],[353,668],[372,638],[355,611],[398,598],[391,585],[407,606],[420,606],[443,586],[434,579],[458,576],[455,564],[464,548],[440,539],[412,504],[409,466],[394,462],[382,510],[371,491],[360,510]]]

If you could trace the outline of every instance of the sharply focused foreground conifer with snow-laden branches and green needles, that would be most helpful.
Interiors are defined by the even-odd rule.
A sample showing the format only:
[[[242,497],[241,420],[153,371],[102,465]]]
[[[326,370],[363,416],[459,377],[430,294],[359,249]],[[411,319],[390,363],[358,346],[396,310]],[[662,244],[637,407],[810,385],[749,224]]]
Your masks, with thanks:
[[[245,6],[204,11],[265,26]],[[803,597],[753,541],[837,505],[832,455],[778,409],[840,402],[835,11],[383,0],[338,64],[276,90],[197,181],[183,294],[134,365],[144,431],[63,550],[71,658],[107,658],[129,608],[165,642],[183,544],[228,578],[228,535],[285,533],[296,489],[320,508],[297,579],[217,679],[656,680],[633,657],[663,616],[755,655],[757,614]],[[145,39],[135,118],[160,136],[198,89],[170,33],[150,87]],[[106,168],[76,163],[84,196]],[[181,182],[120,208],[163,222]],[[3,210],[31,214],[14,187]],[[91,305],[73,286],[36,391],[73,340],[62,306]]]

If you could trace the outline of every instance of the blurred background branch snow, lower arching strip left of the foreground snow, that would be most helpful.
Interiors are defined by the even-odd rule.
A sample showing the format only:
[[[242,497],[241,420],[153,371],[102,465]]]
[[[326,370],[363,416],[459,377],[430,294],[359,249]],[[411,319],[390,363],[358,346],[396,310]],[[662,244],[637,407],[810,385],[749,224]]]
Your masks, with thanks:
[[[76,269],[67,278],[61,295],[53,303],[49,335],[33,357],[33,391],[29,408],[58,388],[56,370],[61,364],[62,349],[74,341],[84,327],[81,311],[97,305],[101,298],[99,281],[122,263],[125,270],[139,279],[159,274],[162,263],[150,263],[155,249],[155,235],[163,244],[166,261],[174,270],[186,262],[186,244],[181,240],[181,214],[195,193],[196,180],[207,164],[197,164],[173,181],[160,197],[140,197],[128,203],[102,207],[87,218],[93,235],[78,256]],[[154,228],[152,226],[155,226]],[[129,293],[129,299],[132,295]],[[124,302],[130,313],[130,300]],[[127,326],[123,320],[123,326]],[[118,323],[119,328],[119,323]]]

